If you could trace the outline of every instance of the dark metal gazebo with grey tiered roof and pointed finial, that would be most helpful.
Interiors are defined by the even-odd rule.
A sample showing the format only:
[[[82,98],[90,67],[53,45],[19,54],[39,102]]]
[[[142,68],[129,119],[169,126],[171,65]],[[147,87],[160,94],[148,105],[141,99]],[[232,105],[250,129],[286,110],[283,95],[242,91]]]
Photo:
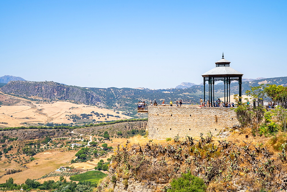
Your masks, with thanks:
[[[235,69],[232,69],[229,66],[230,63],[230,61],[224,59],[224,55],[222,53],[222,59],[215,63],[216,67],[201,75],[203,77],[204,101],[206,81],[208,81],[208,99],[212,105],[214,104],[214,82],[216,81],[223,81],[224,83],[224,102],[230,102],[230,82],[234,80],[238,81],[239,97],[241,97],[241,84],[243,74],[236,71]]]

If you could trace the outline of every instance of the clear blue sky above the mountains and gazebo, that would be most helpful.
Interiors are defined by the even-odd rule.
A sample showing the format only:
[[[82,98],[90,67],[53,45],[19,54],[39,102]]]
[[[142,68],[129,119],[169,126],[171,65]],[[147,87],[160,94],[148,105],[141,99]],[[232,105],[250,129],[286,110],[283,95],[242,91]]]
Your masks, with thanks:
[[[224,58],[287,76],[287,1],[0,1],[0,76],[81,87],[202,82]]]

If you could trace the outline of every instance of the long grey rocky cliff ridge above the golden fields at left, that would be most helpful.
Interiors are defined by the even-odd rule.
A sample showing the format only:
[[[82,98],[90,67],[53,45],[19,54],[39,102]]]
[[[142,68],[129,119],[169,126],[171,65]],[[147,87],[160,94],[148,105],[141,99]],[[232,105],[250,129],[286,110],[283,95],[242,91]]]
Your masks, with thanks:
[[[61,85],[53,81],[10,81],[1,88],[1,91],[24,97],[69,100],[86,105],[104,106],[100,97],[93,91],[77,86]]]

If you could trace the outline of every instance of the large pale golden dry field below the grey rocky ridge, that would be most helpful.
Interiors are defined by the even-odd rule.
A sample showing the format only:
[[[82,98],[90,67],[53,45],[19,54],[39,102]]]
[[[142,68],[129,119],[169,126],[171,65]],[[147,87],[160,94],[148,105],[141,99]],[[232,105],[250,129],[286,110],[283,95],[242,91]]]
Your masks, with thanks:
[[[22,99],[22,98],[20,98]],[[24,101],[25,99],[23,99]],[[26,99],[27,100],[27,99]],[[122,115],[122,111],[115,111],[98,108],[96,106],[90,105],[79,105],[74,103],[69,103],[65,101],[57,101],[53,104],[36,104],[33,101],[34,106],[27,105],[10,105],[10,106],[2,106],[0,108],[0,122],[6,122],[8,124],[0,124],[7,127],[18,127],[23,126],[23,122],[29,123],[72,123],[72,120],[68,120],[68,116],[66,115],[80,115],[80,114],[91,114],[92,111],[98,112],[99,114],[111,114],[114,116],[120,116],[121,118],[111,117],[107,120],[121,120],[121,119],[129,119],[131,117]],[[19,103],[18,103],[19,104]],[[23,102],[23,104],[25,104]],[[119,112],[117,114],[116,112]],[[11,117],[12,116],[12,117]],[[90,119],[95,119],[96,121],[105,121],[106,117],[96,117],[95,115],[90,116]]]

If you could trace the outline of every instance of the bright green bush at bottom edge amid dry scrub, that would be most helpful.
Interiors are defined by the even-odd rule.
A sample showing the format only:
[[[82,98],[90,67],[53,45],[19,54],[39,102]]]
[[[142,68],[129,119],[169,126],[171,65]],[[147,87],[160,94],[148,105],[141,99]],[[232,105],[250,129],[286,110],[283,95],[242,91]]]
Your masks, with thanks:
[[[191,173],[183,173],[181,177],[173,179],[170,185],[171,189],[168,189],[168,192],[200,192],[205,191],[206,189],[203,179],[196,177]]]

